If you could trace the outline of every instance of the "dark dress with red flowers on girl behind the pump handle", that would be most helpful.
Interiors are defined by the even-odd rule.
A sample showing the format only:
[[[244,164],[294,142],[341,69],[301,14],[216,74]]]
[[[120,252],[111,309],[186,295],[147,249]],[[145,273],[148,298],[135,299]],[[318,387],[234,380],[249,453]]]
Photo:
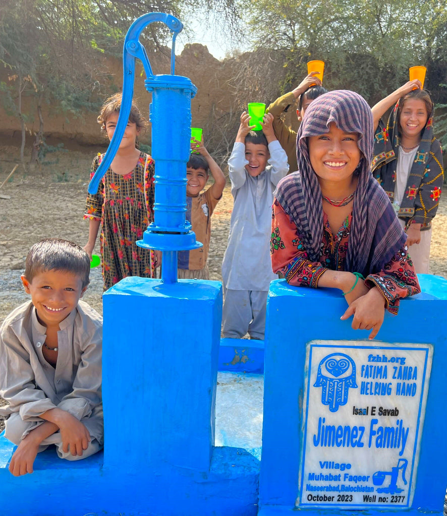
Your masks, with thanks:
[[[91,165],[90,179],[103,154]],[[151,252],[135,242],[153,221],[154,162],[142,152],[132,172],[107,170],[96,195],[87,195],[85,219],[101,221],[101,255],[104,290],[127,276],[153,277]]]

